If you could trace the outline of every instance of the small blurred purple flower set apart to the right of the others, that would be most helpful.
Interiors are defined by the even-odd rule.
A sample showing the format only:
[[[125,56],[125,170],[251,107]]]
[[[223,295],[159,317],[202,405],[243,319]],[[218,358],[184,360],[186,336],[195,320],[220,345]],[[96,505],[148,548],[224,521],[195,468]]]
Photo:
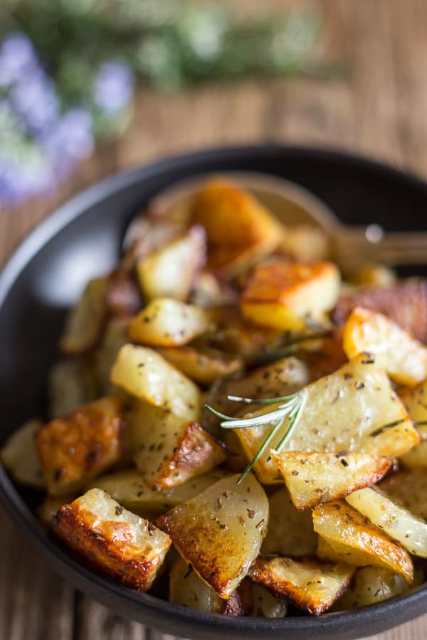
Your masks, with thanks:
[[[93,100],[103,112],[114,113],[124,109],[133,94],[133,77],[124,64],[111,61],[103,64],[95,79]]]

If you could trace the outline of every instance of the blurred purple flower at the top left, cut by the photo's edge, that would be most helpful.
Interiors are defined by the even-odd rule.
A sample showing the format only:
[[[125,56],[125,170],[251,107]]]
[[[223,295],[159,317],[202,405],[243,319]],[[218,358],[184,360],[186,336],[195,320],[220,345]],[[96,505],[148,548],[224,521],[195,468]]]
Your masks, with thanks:
[[[38,67],[31,40],[23,33],[11,33],[0,46],[0,87],[13,85],[28,70]]]

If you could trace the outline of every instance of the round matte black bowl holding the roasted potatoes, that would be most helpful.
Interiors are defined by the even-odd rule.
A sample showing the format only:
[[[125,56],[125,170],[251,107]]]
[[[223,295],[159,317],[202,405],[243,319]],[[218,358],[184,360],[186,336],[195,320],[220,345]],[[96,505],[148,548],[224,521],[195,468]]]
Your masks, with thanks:
[[[165,186],[211,171],[262,171],[300,183],[345,223],[425,230],[427,183],[389,166],[335,151],[275,145],[213,149],[159,161],[97,184],[53,213],[23,242],[0,276],[0,439],[43,415],[46,373],[65,308],[83,283],[110,269],[132,215]],[[179,607],[99,577],[65,555],[33,516],[36,496],[0,466],[0,498],[58,572],[115,612],[194,639],[345,639],[384,631],[427,611],[418,587],[352,612],[285,619],[233,618]]]

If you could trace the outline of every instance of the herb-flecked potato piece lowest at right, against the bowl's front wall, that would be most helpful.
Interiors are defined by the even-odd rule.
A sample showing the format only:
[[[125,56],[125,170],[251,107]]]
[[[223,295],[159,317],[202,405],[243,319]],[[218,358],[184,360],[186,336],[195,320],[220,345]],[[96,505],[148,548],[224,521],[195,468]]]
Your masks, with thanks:
[[[354,574],[352,585],[334,605],[334,611],[347,611],[383,602],[408,591],[406,580],[379,567],[363,567]]]

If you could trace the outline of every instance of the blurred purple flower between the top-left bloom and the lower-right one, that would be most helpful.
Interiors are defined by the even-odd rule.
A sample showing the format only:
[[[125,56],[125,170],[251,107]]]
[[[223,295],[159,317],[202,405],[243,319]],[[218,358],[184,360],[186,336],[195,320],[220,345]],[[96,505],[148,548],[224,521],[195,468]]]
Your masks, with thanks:
[[[24,73],[9,92],[9,100],[31,133],[51,127],[59,112],[53,83],[41,68]]]

